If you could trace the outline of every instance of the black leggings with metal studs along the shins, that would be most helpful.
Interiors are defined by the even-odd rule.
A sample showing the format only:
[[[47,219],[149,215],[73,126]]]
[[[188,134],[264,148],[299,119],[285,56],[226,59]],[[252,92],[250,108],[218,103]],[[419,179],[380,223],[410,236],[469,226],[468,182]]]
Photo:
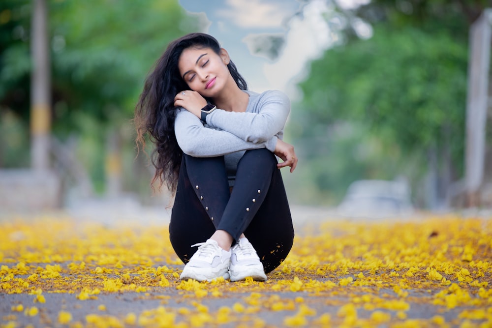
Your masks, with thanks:
[[[265,273],[289,253],[294,228],[277,159],[268,149],[247,150],[229,189],[224,157],[184,155],[169,235],[179,258],[187,263],[191,245],[225,230],[235,241],[242,233],[260,257]]]

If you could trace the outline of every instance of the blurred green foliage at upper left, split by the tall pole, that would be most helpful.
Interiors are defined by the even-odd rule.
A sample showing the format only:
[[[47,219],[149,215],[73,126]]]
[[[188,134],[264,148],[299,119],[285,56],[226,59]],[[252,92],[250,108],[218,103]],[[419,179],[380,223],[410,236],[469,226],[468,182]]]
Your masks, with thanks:
[[[143,79],[166,44],[194,26],[177,1],[48,1],[53,70],[54,125],[59,132],[78,126],[79,115],[106,122],[129,117]],[[2,25],[1,99],[27,94],[30,72],[30,1],[11,1],[3,9],[16,20]],[[22,14],[22,15],[21,15]],[[4,14],[8,16],[7,14]],[[187,27],[189,26],[189,28]],[[22,30],[22,38],[14,39]],[[10,40],[5,35],[11,31]],[[14,111],[27,117],[28,97]],[[3,101],[2,101],[3,102]],[[6,105],[9,105],[7,102]]]

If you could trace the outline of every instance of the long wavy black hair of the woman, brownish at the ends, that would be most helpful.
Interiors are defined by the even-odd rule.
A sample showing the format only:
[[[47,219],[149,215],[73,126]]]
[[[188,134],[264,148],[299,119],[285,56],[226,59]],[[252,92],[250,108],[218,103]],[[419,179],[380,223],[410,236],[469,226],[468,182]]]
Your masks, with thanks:
[[[159,181],[159,189],[165,183],[174,194],[178,184],[178,175],[183,158],[183,150],[178,145],[174,133],[174,121],[178,107],[174,106],[174,97],[182,90],[189,89],[180,75],[179,58],[184,49],[210,48],[217,55],[220,53],[218,41],[205,33],[190,33],[171,42],[164,54],[153,66],[152,72],[145,80],[144,90],[135,107],[134,124],[137,131],[136,144],[145,149],[145,137],[155,144],[151,161],[155,167],[154,178]],[[240,89],[246,90],[246,80],[239,74],[231,61],[227,65],[234,81]],[[210,99],[207,99],[210,100]]]

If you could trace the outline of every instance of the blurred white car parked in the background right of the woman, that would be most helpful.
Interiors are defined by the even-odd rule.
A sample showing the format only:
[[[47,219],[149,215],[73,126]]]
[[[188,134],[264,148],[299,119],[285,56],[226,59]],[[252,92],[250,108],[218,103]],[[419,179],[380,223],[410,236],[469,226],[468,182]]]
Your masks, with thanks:
[[[350,184],[337,214],[347,217],[397,217],[413,212],[408,183],[402,180],[358,180]]]

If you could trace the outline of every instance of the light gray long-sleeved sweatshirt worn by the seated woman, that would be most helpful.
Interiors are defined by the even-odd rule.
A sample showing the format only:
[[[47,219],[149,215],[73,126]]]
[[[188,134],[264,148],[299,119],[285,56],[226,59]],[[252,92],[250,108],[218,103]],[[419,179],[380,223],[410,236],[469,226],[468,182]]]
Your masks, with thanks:
[[[176,139],[185,154],[193,157],[225,155],[229,184],[234,184],[236,168],[248,149],[275,150],[277,139],[283,138],[283,128],[290,112],[290,100],[281,91],[249,95],[246,112],[216,109],[204,124],[185,109],[178,112],[174,123]]]

